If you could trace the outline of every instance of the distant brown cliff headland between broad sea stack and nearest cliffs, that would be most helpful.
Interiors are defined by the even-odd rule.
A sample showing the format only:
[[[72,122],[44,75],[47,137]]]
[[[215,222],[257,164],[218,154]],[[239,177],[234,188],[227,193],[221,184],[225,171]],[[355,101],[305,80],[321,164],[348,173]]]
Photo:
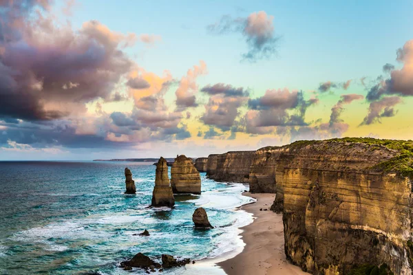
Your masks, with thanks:
[[[234,151],[220,155],[209,155],[207,176],[215,181],[249,181],[250,166],[255,151]]]

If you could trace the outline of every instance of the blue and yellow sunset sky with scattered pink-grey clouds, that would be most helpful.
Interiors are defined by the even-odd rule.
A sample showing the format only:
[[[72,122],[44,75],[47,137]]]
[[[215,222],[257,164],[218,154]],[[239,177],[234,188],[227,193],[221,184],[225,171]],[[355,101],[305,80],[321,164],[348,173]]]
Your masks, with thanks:
[[[0,1],[0,160],[413,136],[412,1]]]

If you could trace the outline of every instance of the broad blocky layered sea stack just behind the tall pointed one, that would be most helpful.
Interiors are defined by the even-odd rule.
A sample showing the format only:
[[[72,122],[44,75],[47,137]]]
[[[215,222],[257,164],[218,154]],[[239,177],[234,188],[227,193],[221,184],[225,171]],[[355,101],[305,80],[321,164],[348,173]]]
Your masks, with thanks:
[[[171,186],[174,193],[201,193],[201,177],[190,157],[176,157],[171,168]]]

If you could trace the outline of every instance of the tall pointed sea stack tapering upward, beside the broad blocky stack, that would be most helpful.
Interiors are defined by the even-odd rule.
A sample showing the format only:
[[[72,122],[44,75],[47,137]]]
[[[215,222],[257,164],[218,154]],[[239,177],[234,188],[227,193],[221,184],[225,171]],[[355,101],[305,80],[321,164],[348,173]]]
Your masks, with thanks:
[[[167,160],[160,157],[158,164],[156,164],[155,188],[153,188],[151,206],[172,207],[174,204],[175,199],[169,184]]]

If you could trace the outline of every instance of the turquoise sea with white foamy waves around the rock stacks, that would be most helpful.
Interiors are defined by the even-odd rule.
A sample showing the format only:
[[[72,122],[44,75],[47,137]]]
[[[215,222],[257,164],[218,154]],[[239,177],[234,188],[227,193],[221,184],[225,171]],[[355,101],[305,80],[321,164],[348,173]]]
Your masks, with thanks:
[[[123,194],[125,167],[133,173],[136,195]],[[170,210],[147,208],[152,165],[0,162],[0,274],[129,274],[118,264],[138,252],[195,261],[231,252],[240,245],[238,228],[252,221],[235,208],[252,199],[242,196],[242,184],[201,177],[202,195],[176,196]],[[193,228],[191,217],[200,206],[213,230]],[[133,236],[145,229],[151,236]],[[184,267],[169,271],[182,272]]]

